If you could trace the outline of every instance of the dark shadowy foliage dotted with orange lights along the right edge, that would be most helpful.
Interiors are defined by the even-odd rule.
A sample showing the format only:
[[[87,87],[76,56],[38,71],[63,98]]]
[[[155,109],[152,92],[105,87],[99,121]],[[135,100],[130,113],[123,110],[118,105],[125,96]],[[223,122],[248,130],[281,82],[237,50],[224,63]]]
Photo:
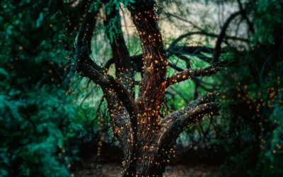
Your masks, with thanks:
[[[283,80],[282,61],[277,57],[282,52],[282,43],[277,40],[283,23],[282,3],[258,1],[253,5],[253,41],[248,50],[234,54],[232,60],[237,64],[224,76],[225,86],[231,89],[222,115],[230,122],[230,130],[236,130],[234,135],[226,132],[225,137],[233,135],[240,140],[236,147],[221,142],[229,156],[222,167],[232,176],[282,176]]]

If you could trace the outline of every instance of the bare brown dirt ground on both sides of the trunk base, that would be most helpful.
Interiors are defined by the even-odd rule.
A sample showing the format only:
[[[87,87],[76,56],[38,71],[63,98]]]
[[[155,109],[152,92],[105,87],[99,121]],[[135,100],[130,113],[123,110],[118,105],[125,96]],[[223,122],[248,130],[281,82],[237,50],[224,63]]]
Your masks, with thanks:
[[[217,166],[167,166],[164,177],[216,177]],[[120,177],[122,166],[119,164],[86,164],[74,173],[74,177]]]

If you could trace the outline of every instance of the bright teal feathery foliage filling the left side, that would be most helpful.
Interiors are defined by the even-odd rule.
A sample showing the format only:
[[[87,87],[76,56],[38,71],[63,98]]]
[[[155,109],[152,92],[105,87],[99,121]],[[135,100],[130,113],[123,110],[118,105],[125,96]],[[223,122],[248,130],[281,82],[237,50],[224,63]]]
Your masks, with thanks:
[[[85,133],[68,94],[65,19],[55,1],[37,3],[0,4],[0,176],[70,176]]]

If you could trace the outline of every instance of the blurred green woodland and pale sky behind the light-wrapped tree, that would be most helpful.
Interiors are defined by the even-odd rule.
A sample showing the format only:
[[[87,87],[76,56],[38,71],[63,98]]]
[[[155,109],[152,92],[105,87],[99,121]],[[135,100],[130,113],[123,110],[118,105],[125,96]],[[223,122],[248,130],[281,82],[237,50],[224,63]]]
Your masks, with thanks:
[[[97,17],[93,60],[108,66],[112,75],[107,36],[117,26],[115,21],[105,25],[103,13],[113,6],[120,10],[116,20],[122,23],[129,55],[141,55],[125,8],[133,2],[110,1]],[[209,66],[214,45],[224,36],[220,60],[225,71],[175,84],[163,98],[167,114],[221,90],[219,113],[185,129],[169,165],[219,166],[219,176],[283,176],[283,2],[156,2],[165,47],[172,53],[168,75]],[[112,135],[103,92],[74,69],[72,46],[90,3],[0,2],[0,176],[71,176],[90,159],[120,165],[122,151]],[[196,31],[200,34],[184,37]],[[171,51],[176,39],[180,50]],[[182,47],[187,44],[192,47]]]

